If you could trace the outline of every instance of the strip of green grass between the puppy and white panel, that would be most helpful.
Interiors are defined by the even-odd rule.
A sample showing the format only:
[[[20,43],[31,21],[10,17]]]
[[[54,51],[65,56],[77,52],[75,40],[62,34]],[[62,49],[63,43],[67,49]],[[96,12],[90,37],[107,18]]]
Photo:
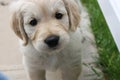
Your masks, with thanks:
[[[82,0],[87,7],[106,80],[120,80],[120,54],[108,29],[97,0]]]

